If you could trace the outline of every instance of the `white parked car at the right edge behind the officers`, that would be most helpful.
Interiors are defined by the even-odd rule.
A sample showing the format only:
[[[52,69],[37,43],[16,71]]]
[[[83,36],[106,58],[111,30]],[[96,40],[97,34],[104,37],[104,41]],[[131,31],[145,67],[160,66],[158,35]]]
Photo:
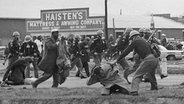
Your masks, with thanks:
[[[167,50],[164,46],[159,45],[161,58],[166,57],[167,60],[181,60],[183,58],[183,50]]]

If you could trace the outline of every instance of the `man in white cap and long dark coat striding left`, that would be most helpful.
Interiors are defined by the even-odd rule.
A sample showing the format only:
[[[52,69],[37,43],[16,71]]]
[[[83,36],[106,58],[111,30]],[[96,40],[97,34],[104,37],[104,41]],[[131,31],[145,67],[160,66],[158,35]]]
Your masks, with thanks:
[[[58,34],[58,29],[51,30],[51,36],[48,37],[45,41],[44,56],[38,64],[39,69],[42,70],[44,73],[36,81],[32,82],[33,88],[37,88],[40,83],[48,80],[51,76],[53,76],[52,87],[58,87],[58,67],[56,64],[56,60],[58,57]]]

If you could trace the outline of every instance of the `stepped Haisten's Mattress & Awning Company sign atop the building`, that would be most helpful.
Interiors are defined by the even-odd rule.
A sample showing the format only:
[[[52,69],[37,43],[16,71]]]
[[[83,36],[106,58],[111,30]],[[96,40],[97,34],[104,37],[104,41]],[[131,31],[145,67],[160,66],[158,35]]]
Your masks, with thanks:
[[[89,17],[89,8],[41,10],[41,19],[28,19],[27,32],[104,29],[104,16]]]

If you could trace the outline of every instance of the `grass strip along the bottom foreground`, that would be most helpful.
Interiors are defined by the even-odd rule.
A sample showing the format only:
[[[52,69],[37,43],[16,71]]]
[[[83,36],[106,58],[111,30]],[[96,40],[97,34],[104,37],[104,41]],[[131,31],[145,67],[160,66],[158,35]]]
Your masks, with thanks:
[[[1,102],[19,104],[180,104],[184,101],[183,86],[164,86],[150,91],[149,84],[140,85],[139,96],[123,94],[100,95],[101,88],[1,88]],[[183,103],[181,103],[183,104]]]

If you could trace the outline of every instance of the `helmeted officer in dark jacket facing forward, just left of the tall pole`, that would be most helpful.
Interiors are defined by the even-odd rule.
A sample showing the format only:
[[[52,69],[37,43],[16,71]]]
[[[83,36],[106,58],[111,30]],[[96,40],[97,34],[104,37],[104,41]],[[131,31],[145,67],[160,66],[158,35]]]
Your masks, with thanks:
[[[97,31],[97,37],[94,39],[90,47],[90,51],[93,55],[95,65],[100,65],[102,61],[102,52],[105,49],[102,40],[103,33],[104,32],[102,30]]]

